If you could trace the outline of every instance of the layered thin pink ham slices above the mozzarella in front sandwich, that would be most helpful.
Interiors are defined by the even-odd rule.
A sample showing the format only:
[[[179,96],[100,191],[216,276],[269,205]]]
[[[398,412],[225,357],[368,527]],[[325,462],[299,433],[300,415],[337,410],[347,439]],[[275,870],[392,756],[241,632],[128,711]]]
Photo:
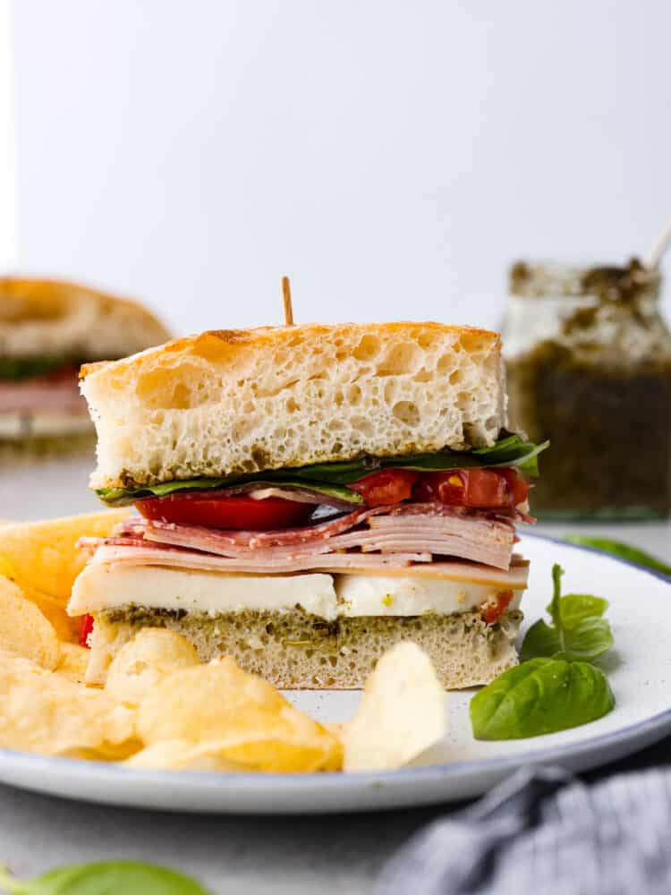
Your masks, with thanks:
[[[454,557],[507,569],[514,546],[514,525],[509,520],[477,514],[447,512],[430,504],[375,507],[340,516],[322,524],[281,532],[231,532],[134,519],[122,524],[116,538],[106,544],[150,550],[155,544],[198,551],[245,563],[245,569],[262,571],[282,563],[288,571],[334,564],[333,557],[422,555]],[[355,550],[356,553],[345,553]],[[330,557],[330,559],[324,559]],[[149,562],[149,553],[146,561]],[[336,564],[341,560],[337,559]],[[415,560],[420,561],[420,560]],[[425,560],[421,560],[425,561]],[[368,564],[368,560],[363,563]],[[242,570],[242,569],[241,569]]]

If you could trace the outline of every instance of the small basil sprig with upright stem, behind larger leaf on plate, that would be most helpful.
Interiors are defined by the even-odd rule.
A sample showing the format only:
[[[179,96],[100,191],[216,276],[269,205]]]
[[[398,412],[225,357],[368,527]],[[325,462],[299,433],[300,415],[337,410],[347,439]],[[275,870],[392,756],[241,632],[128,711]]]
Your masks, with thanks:
[[[591,661],[614,643],[610,625],[601,618],[607,600],[586,593],[561,596],[562,575],[562,568],[554,566],[554,592],[548,606],[552,625],[541,618],[530,627],[522,643],[522,662],[536,657]]]

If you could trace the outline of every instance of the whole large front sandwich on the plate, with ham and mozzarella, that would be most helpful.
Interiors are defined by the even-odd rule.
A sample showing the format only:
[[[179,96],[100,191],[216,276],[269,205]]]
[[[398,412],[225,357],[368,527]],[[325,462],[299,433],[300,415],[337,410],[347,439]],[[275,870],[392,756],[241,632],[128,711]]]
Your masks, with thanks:
[[[515,524],[543,446],[505,430],[496,333],[206,332],[81,376],[91,487],[138,510],[81,542],[89,682],[143,626],[283,688],[361,687],[403,640],[446,688],[516,663]]]

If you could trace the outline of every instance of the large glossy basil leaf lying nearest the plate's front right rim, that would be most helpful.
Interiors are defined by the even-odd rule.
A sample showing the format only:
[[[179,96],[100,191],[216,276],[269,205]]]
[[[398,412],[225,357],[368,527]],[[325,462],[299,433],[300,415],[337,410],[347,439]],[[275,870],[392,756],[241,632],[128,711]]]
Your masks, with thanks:
[[[471,699],[476,739],[522,739],[597,720],[615,706],[603,672],[589,662],[531,659]]]

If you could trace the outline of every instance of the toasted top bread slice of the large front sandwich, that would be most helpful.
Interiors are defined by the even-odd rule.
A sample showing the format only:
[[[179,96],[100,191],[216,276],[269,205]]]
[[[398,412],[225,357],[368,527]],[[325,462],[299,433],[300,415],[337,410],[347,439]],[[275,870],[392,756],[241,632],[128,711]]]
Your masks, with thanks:
[[[491,445],[500,339],[439,323],[206,332],[82,368],[93,488]]]

